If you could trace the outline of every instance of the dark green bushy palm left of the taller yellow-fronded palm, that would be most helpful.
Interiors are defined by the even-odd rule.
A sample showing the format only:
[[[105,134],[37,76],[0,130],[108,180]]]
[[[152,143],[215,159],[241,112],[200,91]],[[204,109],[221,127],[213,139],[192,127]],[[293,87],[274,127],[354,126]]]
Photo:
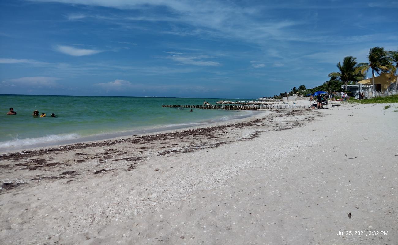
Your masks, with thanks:
[[[356,69],[357,58],[346,56],[343,59],[343,65],[337,63],[339,72],[329,73],[328,77],[335,77],[337,80],[343,82],[345,90],[349,82],[358,82],[363,79],[363,74],[359,73]]]

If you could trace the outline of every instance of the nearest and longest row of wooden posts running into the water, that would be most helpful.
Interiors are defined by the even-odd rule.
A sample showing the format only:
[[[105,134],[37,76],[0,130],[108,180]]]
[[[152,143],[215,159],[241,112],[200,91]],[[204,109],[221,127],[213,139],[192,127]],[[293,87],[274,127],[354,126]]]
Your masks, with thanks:
[[[167,108],[224,109],[224,110],[261,110],[261,109],[305,109],[304,105],[162,105]]]

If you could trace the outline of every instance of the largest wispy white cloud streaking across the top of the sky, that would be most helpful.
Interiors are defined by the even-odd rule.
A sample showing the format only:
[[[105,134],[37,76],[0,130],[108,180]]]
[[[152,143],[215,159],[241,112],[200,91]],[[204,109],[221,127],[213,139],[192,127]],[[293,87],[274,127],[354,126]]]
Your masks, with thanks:
[[[128,21],[151,21],[188,24],[192,28],[173,30],[158,30],[174,35],[200,35],[205,38],[233,38],[264,45],[265,39],[285,39],[293,35],[289,27],[302,24],[297,21],[276,20],[269,17],[264,20],[265,7],[254,4],[242,6],[224,1],[189,1],[189,0],[31,0],[38,2],[60,2],[65,4],[83,4],[89,6],[103,6],[122,10],[144,10],[142,14],[134,16],[92,16],[106,19],[115,24],[129,27]],[[153,14],[151,8],[164,8],[164,14]],[[267,4],[267,8],[271,8]],[[172,13],[172,15],[170,15]],[[271,14],[271,13],[269,13]],[[289,32],[287,32],[289,31]],[[302,36],[302,35],[300,35]]]

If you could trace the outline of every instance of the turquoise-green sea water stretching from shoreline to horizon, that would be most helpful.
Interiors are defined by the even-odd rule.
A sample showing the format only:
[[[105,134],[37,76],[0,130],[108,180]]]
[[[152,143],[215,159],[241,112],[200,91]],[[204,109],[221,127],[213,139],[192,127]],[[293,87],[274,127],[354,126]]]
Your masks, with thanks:
[[[215,104],[238,99],[0,95],[0,151],[150,133],[253,113],[162,108],[162,104],[200,105],[204,100]],[[17,115],[6,115],[10,107]],[[33,110],[47,117],[34,118]],[[58,117],[51,118],[51,113]]]

